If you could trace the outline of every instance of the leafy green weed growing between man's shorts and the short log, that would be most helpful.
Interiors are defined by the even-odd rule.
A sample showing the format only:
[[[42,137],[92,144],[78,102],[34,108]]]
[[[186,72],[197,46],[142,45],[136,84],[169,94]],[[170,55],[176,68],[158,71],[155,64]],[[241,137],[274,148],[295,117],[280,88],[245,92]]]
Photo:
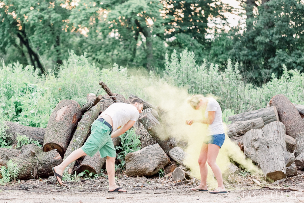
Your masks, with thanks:
[[[135,128],[129,129],[123,135],[120,136],[121,147],[116,146],[115,150],[121,150],[118,153],[117,159],[121,160],[121,163],[117,167],[125,167],[125,156],[130,152],[136,152],[140,150],[140,136],[135,133]]]

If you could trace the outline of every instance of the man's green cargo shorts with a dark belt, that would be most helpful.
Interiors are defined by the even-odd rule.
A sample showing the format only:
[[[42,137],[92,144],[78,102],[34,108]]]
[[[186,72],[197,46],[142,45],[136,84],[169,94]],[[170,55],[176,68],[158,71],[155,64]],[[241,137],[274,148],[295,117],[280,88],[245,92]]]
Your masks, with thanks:
[[[99,151],[100,157],[116,157],[116,151],[110,135],[111,129],[103,122],[95,120],[91,127],[91,135],[81,149],[90,157]]]

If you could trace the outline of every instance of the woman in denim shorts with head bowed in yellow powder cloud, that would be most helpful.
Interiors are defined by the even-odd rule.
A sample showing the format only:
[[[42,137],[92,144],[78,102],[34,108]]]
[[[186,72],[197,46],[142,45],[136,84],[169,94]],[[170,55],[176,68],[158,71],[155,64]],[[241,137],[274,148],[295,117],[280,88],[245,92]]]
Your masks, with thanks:
[[[211,167],[212,172],[218,182],[217,189],[211,191],[212,194],[227,193],[224,183],[221,169],[216,164],[216,158],[218,156],[219,149],[222,147],[225,140],[224,126],[222,120],[222,110],[218,102],[213,98],[207,98],[202,95],[192,95],[187,100],[191,107],[195,110],[204,109],[205,119],[202,120],[186,120],[187,125],[193,123],[208,124],[209,133],[206,136],[206,140],[202,144],[200,156],[198,158],[198,164],[200,166],[201,184],[191,190],[208,191],[207,189],[207,164]]]

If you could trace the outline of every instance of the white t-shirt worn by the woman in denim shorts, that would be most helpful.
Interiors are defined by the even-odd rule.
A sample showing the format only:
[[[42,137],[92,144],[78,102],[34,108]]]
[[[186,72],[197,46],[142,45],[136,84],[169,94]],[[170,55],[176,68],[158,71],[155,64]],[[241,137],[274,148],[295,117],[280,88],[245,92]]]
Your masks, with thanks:
[[[225,133],[223,120],[222,120],[222,110],[218,102],[213,98],[207,98],[208,104],[205,111],[205,117],[208,118],[208,111],[215,111],[215,118],[212,124],[208,125],[208,131],[211,133],[209,135],[218,135]]]

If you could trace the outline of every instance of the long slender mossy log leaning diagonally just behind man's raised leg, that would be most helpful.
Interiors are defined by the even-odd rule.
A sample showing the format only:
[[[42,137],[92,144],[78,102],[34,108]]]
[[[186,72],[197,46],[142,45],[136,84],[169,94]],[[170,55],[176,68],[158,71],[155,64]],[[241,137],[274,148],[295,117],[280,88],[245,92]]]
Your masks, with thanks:
[[[81,118],[81,120],[77,125],[77,129],[71,139],[71,142],[68,148],[66,149],[66,153],[63,159],[66,159],[73,151],[79,149],[83,145],[84,141],[86,140],[86,137],[90,132],[91,124],[99,115],[99,111],[100,111],[100,105],[97,104],[83,115],[83,117]],[[66,167],[68,174],[72,173],[75,162],[76,161],[73,161]]]

